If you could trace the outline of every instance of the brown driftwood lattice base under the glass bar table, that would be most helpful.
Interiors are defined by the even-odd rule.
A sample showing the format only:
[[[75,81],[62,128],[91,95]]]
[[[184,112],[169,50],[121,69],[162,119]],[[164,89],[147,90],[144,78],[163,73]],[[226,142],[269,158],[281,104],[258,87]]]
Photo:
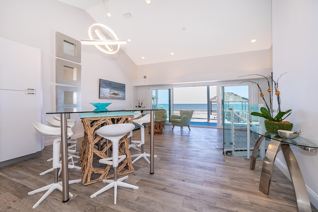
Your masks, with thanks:
[[[111,142],[106,142],[104,148],[98,149],[98,143],[105,141],[98,136],[95,131],[104,125],[132,123],[133,116],[114,116],[114,117],[92,117],[82,118],[84,126],[84,137],[79,151],[80,165],[82,171],[82,184],[88,185],[114,177],[111,165],[100,164],[101,158],[111,157],[107,155],[110,152]],[[126,158],[118,165],[118,176],[134,172],[130,151],[128,149],[127,134],[119,141],[119,155],[126,154]],[[93,162],[98,167],[94,167]],[[101,168],[104,167],[104,168]]]

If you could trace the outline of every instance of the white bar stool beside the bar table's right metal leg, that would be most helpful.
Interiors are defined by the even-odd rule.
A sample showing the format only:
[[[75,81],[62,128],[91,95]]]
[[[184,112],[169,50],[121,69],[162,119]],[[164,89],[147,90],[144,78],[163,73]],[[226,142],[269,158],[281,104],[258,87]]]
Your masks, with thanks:
[[[150,164],[150,161],[147,157],[150,157],[150,154],[146,153],[144,151],[144,144],[145,144],[145,126],[143,124],[149,123],[150,122],[150,114],[147,114],[146,116],[143,116],[140,119],[133,120],[133,123],[140,126],[140,141],[131,141],[131,145],[135,145],[135,147],[140,147],[141,146],[141,152],[143,153],[138,153],[138,154],[133,154],[131,157],[137,157],[135,160],[133,160],[132,163],[136,162],[140,158],[145,158],[145,160]],[[154,155],[154,157],[157,157],[157,155]]]

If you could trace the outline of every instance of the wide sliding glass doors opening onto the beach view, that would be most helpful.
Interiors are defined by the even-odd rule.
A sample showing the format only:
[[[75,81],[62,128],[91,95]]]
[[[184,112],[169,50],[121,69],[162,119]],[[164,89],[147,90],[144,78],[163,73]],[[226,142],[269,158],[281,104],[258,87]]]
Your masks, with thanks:
[[[228,123],[224,111],[229,111],[232,104],[235,109],[248,110],[248,85],[213,84],[197,86],[178,86],[150,88],[153,108],[167,111],[167,122],[171,114],[179,114],[180,110],[194,110],[192,126],[223,127]]]

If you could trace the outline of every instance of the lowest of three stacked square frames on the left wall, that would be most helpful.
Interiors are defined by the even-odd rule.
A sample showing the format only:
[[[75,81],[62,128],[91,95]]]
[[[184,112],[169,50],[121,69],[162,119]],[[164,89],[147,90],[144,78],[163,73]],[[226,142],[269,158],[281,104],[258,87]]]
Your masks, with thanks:
[[[80,107],[81,88],[56,85],[56,108]]]

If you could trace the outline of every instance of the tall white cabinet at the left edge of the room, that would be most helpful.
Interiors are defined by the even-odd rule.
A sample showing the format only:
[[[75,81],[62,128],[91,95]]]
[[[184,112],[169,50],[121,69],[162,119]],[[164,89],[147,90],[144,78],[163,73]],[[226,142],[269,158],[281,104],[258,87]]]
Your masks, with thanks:
[[[32,125],[41,121],[41,50],[3,38],[0,46],[1,167],[40,152],[43,141]]]

